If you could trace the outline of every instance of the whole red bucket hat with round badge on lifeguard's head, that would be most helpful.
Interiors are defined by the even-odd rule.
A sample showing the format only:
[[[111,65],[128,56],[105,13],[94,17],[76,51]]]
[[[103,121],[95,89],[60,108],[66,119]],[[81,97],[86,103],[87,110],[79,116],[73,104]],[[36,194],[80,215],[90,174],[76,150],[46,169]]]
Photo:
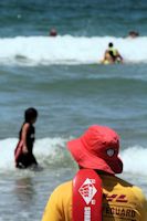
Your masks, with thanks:
[[[93,125],[80,138],[67,143],[78,166],[107,173],[120,173],[119,137],[109,127]]]

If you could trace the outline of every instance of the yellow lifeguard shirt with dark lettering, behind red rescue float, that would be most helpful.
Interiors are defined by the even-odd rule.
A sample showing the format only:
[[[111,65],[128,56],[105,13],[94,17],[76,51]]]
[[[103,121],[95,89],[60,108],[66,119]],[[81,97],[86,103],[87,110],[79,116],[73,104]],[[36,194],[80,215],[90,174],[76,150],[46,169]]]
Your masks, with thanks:
[[[103,221],[147,221],[147,200],[138,187],[115,176],[101,175],[101,178]],[[53,191],[42,221],[72,221],[72,181]]]

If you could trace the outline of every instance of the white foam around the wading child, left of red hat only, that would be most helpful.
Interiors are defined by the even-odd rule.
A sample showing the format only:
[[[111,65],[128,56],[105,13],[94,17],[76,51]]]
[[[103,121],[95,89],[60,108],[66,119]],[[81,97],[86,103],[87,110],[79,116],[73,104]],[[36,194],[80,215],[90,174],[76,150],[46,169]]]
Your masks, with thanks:
[[[17,138],[8,138],[0,140],[0,170],[14,169],[14,149],[18,144]],[[63,138],[43,138],[34,143],[34,155],[39,162],[49,161],[50,157],[55,158],[56,149],[65,146]]]

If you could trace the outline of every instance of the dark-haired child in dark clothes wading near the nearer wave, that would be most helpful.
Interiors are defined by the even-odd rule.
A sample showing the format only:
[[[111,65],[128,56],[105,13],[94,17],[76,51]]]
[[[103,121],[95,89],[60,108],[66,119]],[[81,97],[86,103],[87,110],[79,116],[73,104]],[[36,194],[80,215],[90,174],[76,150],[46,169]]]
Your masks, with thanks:
[[[38,166],[36,159],[33,156],[33,144],[35,128],[33,124],[36,122],[38,110],[30,107],[24,113],[24,123],[20,129],[19,143],[14,150],[14,159],[17,168],[28,168]]]

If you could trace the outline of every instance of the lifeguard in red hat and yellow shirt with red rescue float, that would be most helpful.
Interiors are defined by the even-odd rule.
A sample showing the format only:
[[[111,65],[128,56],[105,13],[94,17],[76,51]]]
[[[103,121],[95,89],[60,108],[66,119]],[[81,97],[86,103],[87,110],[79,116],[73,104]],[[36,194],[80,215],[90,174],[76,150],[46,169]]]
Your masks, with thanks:
[[[141,189],[115,176],[123,171],[115,130],[93,125],[67,149],[80,170],[52,192],[42,221],[147,220]]]

